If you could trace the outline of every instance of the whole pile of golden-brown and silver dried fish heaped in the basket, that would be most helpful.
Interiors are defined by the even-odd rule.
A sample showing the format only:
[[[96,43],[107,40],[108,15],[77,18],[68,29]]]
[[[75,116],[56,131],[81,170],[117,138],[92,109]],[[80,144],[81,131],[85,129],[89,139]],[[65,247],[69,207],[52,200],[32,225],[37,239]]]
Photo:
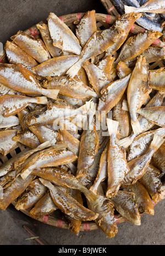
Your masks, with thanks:
[[[98,30],[93,10],[73,33],[50,13],[41,39],[19,31],[7,41],[0,153],[25,150],[0,166],[2,210],[59,211],[76,235],[95,221],[108,238],[116,213],[135,225],[154,214],[165,195],[165,71],[149,64],[165,57],[152,45],[161,32],[130,35],[141,17],[139,8]]]

